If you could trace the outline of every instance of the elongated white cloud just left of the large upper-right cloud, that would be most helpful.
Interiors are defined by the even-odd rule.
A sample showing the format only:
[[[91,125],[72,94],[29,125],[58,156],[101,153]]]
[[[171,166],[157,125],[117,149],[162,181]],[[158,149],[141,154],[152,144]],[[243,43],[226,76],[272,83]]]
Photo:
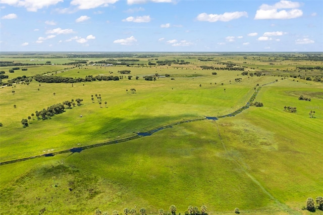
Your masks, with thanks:
[[[228,22],[234,19],[239,19],[241,17],[248,17],[248,13],[245,11],[239,12],[226,12],[224,14],[206,14],[202,13],[199,14],[196,19],[198,21],[205,21],[205,22],[217,22],[217,21],[222,21],[222,22]]]

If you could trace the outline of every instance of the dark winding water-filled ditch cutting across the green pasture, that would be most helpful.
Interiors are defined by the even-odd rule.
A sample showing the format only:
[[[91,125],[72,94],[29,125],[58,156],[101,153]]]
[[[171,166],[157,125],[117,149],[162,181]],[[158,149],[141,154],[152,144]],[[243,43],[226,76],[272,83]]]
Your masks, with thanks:
[[[271,82],[271,83],[274,83],[274,82]],[[267,83],[267,84],[271,84],[271,83]],[[267,85],[267,84],[264,84],[264,85]],[[157,131],[160,131],[160,130],[163,130],[163,129],[166,129],[166,128],[172,128],[173,126],[179,125],[179,124],[182,124],[182,123],[189,123],[189,122],[195,122],[195,121],[206,120],[206,119],[217,120],[217,119],[225,118],[225,117],[234,117],[235,115],[237,115],[237,114],[241,113],[242,111],[246,110],[247,108],[249,108],[250,103],[255,99],[255,97],[258,94],[260,89],[261,89],[261,87],[258,87],[254,91],[254,93],[252,94],[252,96],[250,97],[250,99],[248,100],[246,105],[242,106],[241,108],[234,111],[233,113],[230,113],[230,114],[227,114],[227,115],[217,116],[217,117],[205,117],[205,118],[191,119],[191,120],[175,122],[175,123],[172,123],[172,124],[169,124],[169,125],[166,125],[166,126],[158,127],[156,129],[150,130],[148,132],[137,133],[137,135],[132,136],[132,137],[128,137],[128,138],[125,138],[125,139],[113,140],[113,141],[109,141],[109,142],[105,142],[105,143],[99,143],[99,144],[92,144],[92,145],[87,145],[87,146],[83,146],[83,147],[79,147],[79,148],[71,148],[71,149],[66,149],[66,150],[62,150],[62,151],[57,151],[57,152],[54,152],[54,153],[46,153],[46,154],[41,154],[41,155],[37,155],[37,156],[25,157],[25,158],[21,158],[21,159],[8,160],[7,162],[0,163],[0,166],[1,165],[6,165],[6,164],[22,162],[24,160],[33,159],[33,158],[54,156],[56,154],[69,153],[69,152],[80,152],[80,151],[82,151],[84,149],[88,149],[88,148],[99,147],[99,146],[103,146],[103,145],[111,145],[111,144],[116,144],[116,143],[120,143],[120,142],[126,142],[126,141],[137,139],[137,138],[140,138],[140,137],[143,137],[143,136],[149,136],[149,135],[151,135],[151,134],[153,134],[153,133],[155,133]]]

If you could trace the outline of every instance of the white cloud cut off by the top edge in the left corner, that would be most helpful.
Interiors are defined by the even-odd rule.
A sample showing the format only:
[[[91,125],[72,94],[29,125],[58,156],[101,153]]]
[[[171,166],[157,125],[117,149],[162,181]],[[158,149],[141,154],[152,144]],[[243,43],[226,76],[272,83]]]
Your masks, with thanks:
[[[24,7],[27,11],[37,12],[42,8],[56,5],[63,0],[1,0],[1,4],[8,4],[14,7]]]

